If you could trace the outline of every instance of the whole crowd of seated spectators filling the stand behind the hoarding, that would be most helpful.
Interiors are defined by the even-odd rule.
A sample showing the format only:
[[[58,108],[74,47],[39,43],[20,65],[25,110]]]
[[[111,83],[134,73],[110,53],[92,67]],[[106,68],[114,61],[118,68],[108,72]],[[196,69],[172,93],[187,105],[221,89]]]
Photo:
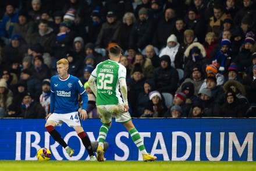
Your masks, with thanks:
[[[131,117],[256,116],[254,0],[3,0],[0,19],[0,117],[45,118],[66,58],[98,118],[87,80],[112,45]]]

